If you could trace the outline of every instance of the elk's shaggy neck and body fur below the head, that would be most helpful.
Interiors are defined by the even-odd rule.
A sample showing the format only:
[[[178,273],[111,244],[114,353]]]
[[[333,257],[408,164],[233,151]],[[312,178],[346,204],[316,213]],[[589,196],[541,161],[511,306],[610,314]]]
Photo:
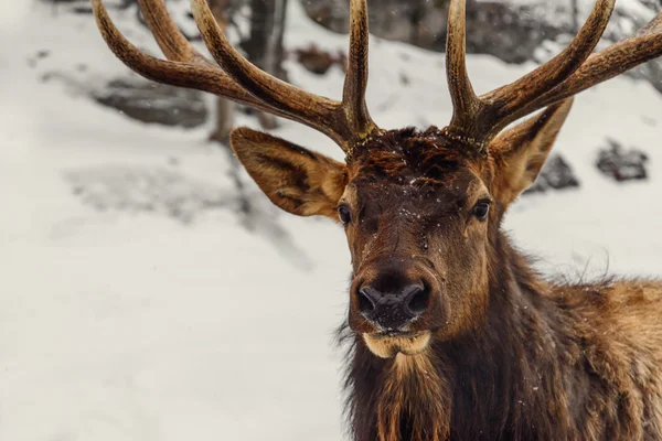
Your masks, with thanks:
[[[353,439],[661,439],[662,284],[555,286],[501,233],[493,243],[501,277],[480,329],[437,341],[405,369],[343,327]]]

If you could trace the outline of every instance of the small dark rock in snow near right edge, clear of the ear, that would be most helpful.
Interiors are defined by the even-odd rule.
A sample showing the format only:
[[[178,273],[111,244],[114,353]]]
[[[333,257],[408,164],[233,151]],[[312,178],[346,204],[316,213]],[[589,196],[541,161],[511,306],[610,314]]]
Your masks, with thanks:
[[[617,182],[648,179],[645,153],[634,148],[624,150],[621,143],[612,139],[608,139],[607,143],[609,147],[598,153],[598,170]]]

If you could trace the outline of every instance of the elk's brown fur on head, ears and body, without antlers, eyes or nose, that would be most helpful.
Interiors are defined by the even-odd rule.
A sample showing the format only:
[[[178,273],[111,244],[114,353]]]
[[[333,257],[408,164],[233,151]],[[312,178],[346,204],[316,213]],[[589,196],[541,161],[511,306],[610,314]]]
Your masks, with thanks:
[[[662,283],[546,281],[500,228],[569,107],[506,130],[483,153],[436,128],[387,132],[356,149],[348,165],[248,130],[234,138],[268,195],[299,192],[314,200],[301,206],[334,218],[338,203],[352,208],[354,273],[341,341],[350,351],[355,441],[662,439]],[[242,152],[256,141],[260,154],[279,161],[265,168],[246,160]],[[467,209],[484,195],[494,203],[480,223]],[[291,209],[289,200],[273,201]],[[430,330],[429,344],[381,337],[356,312],[356,283],[389,268],[435,287],[410,329]]]

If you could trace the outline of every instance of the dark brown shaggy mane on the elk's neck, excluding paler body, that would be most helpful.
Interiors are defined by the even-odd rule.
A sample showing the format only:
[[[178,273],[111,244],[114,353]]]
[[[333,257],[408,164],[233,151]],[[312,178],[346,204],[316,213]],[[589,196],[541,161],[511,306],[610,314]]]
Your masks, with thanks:
[[[380,439],[377,427],[384,427],[381,419],[388,412],[380,417],[378,409],[388,408],[384,401],[394,397],[407,401],[388,408],[401,409],[399,435],[382,430],[383,441],[566,439],[573,431],[573,409],[562,397],[567,402],[566,394],[581,394],[588,380],[568,372],[578,356],[575,342],[564,337],[572,335],[570,324],[500,230],[490,244],[490,305],[483,326],[435,343],[426,355],[435,370],[430,378],[414,369],[410,375],[418,379],[403,380],[399,395],[393,392],[388,385],[397,358],[377,358],[360,336],[346,334],[348,417],[355,441]],[[434,433],[416,432],[421,426]]]

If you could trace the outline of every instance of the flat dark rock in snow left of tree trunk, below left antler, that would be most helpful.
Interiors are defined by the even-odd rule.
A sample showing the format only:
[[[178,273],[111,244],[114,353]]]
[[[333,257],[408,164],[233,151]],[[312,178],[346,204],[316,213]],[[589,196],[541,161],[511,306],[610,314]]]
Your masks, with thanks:
[[[189,129],[203,125],[209,115],[202,93],[142,78],[113,79],[104,88],[93,90],[93,97],[104,106],[148,123]]]

